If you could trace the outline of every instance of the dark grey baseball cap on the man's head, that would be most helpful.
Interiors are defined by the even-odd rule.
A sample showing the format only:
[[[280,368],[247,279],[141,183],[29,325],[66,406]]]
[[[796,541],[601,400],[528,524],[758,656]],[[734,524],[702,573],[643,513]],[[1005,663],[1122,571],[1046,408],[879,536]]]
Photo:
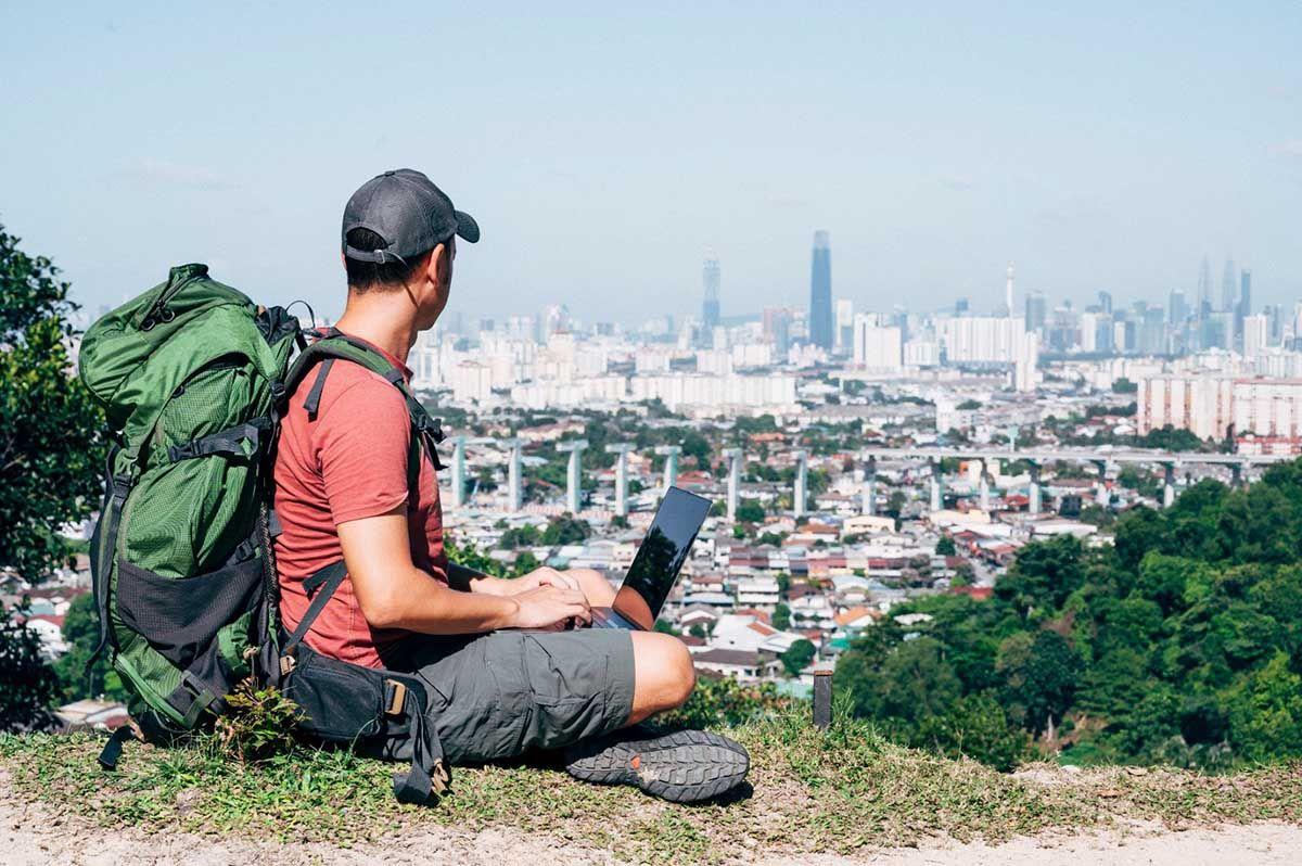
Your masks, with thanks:
[[[365,228],[384,238],[378,250],[348,245],[348,233]],[[406,262],[443,244],[453,234],[471,244],[479,240],[474,217],[452,206],[452,199],[428,177],[410,168],[376,175],[362,184],[344,206],[344,255],[358,262]]]

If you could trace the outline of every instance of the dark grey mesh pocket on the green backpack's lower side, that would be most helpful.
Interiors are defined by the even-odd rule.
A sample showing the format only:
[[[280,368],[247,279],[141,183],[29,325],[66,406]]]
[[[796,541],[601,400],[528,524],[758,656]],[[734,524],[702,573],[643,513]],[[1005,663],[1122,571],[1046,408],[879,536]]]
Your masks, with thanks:
[[[117,615],[185,671],[208,651],[223,626],[254,609],[262,580],[258,559],[185,578],[161,577],[124,559],[117,563]]]

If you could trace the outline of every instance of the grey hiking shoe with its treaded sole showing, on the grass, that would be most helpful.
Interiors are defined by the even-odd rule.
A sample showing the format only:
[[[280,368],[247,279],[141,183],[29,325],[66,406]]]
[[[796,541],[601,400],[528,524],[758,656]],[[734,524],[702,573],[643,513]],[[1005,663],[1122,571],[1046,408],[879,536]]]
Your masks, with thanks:
[[[676,731],[637,738],[643,733],[624,731],[575,744],[565,750],[565,771],[583,781],[637,785],[680,803],[717,797],[746,779],[750,755],[728,737]]]

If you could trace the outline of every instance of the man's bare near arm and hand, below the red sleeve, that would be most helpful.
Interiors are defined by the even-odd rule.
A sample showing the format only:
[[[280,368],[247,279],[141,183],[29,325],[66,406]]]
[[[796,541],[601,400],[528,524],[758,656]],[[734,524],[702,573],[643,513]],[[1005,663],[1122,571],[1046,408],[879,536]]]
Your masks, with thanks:
[[[357,603],[374,628],[424,634],[477,634],[506,628],[551,628],[572,617],[587,622],[582,593],[539,586],[519,595],[458,593],[411,563],[406,507],[339,525]]]

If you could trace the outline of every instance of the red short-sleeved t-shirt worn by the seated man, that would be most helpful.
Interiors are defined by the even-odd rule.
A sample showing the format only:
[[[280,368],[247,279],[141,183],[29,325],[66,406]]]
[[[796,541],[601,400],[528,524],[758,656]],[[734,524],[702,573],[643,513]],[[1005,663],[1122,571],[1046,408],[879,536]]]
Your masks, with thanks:
[[[411,378],[397,358],[383,354]],[[275,542],[276,572],[280,613],[290,632],[309,606],[303,578],[344,559],[336,527],[385,514],[402,503],[408,505],[411,561],[431,580],[448,581],[439,483],[423,452],[418,490],[408,486],[413,432],[401,392],[359,363],[335,361],[316,419],[309,421],[303,398],[318,370],[290,396],[276,451],[276,514],[283,527]],[[380,654],[406,634],[372,629],[352,581],[345,580],[305,639],[324,655],[378,668],[383,667]]]

